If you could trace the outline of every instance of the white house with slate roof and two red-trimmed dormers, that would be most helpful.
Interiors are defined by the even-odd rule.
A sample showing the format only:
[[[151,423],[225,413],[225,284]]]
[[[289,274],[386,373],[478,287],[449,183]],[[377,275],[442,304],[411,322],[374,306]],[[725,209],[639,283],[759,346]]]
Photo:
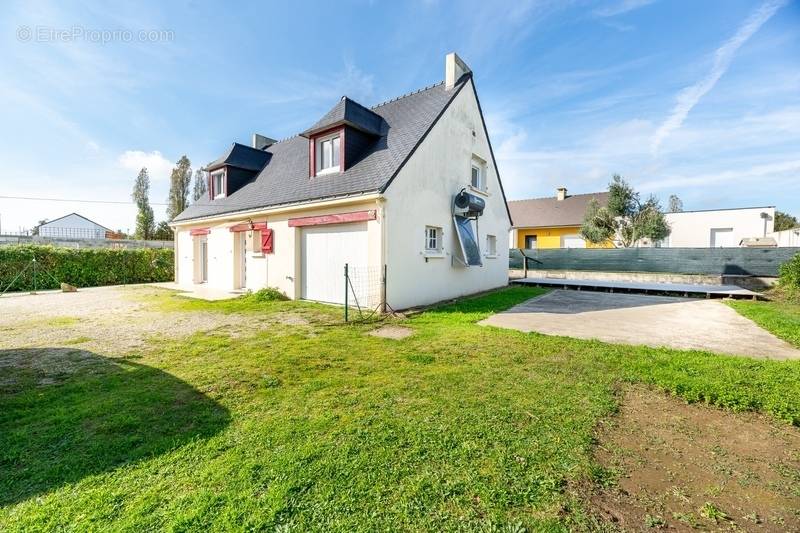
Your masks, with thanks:
[[[177,283],[342,303],[346,264],[348,298],[394,309],[506,285],[511,220],[472,73],[455,54],[445,67],[209,164],[208,198],[172,223]]]

